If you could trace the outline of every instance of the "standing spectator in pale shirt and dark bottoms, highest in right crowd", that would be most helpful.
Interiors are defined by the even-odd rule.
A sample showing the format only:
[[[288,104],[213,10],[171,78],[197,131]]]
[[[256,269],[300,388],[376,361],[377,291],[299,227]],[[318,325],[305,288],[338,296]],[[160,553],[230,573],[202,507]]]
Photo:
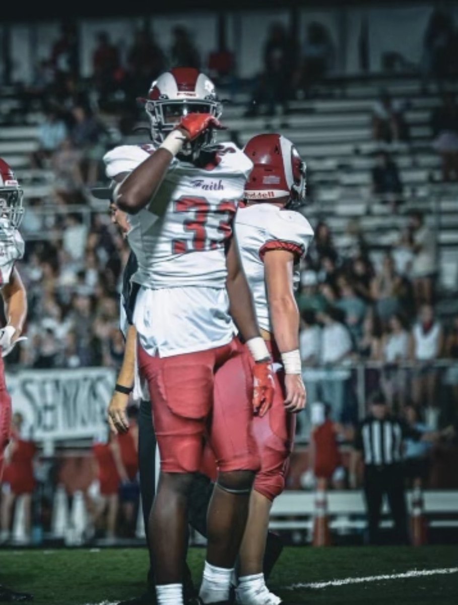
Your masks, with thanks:
[[[425,224],[421,212],[410,213],[414,259],[412,278],[416,304],[434,302],[434,282],[437,275],[437,248],[434,231]]]

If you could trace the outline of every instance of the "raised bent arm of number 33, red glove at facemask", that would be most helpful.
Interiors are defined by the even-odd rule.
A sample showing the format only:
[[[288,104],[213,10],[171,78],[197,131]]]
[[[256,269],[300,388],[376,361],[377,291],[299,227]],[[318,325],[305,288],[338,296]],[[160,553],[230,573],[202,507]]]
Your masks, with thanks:
[[[161,186],[175,155],[184,143],[195,140],[208,128],[222,128],[211,114],[189,114],[167,135],[156,151],[142,162],[115,189],[114,202],[124,212],[137,214],[145,208]],[[152,206],[153,209],[153,206]]]

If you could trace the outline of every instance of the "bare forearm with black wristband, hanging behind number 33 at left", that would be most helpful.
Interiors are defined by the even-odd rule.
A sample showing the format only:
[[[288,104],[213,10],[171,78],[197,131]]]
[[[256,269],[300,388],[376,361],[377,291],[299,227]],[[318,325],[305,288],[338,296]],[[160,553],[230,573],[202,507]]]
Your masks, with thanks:
[[[118,373],[116,387],[108,406],[108,422],[113,433],[126,433],[129,430],[127,420],[127,404],[129,393],[132,391],[135,379],[135,347],[137,346],[137,330],[130,325],[127,330],[126,347],[121,369]]]

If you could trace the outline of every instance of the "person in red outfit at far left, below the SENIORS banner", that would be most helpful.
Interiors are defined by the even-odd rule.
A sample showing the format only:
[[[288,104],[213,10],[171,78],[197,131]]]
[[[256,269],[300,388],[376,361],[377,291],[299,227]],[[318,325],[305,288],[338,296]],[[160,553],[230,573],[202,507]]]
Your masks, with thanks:
[[[16,412],[11,422],[11,441],[5,453],[7,464],[2,482],[1,542],[9,538],[11,517],[18,497],[23,500],[25,534],[30,540],[32,494],[35,489],[33,459],[36,451],[33,440],[24,436],[24,416]]]

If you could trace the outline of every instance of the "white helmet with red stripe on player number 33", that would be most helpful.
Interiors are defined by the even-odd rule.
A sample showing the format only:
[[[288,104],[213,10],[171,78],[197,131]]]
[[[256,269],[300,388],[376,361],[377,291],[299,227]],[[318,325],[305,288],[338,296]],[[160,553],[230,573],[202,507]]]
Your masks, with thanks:
[[[152,139],[156,143],[163,142],[182,116],[209,113],[218,118],[222,113],[213,82],[193,67],[175,67],[161,74],[152,83],[143,102],[151,123]],[[210,131],[199,144],[213,142]]]

